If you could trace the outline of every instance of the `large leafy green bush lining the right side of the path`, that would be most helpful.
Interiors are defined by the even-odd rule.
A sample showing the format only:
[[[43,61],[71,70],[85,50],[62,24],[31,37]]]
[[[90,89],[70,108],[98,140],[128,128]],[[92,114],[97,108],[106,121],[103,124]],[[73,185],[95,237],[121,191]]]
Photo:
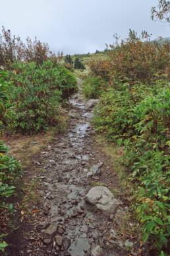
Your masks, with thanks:
[[[169,99],[166,81],[152,87],[119,84],[102,94],[96,109],[96,130],[125,147],[125,165],[138,184],[136,212],[144,241],[158,249],[169,237]]]

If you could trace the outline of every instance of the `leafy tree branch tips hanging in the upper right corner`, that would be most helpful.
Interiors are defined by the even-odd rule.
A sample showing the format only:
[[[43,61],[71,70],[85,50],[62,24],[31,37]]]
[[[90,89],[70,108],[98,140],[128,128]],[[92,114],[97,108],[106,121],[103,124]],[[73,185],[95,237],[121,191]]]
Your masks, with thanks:
[[[159,0],[157,7],[151,9],[152,20],[159,20],[170,23],[170,1]]]

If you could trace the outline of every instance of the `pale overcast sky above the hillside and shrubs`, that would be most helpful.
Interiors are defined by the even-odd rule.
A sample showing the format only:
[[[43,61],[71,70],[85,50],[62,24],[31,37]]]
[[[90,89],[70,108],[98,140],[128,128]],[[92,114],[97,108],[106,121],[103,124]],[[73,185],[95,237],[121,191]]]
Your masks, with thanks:
[[[103,50],[117,32],[147,30],[169,37],[168,24],[153,22],[150,9],[158,0],[1,0],[0,25],[22,40],[37,36],[64,54]]]

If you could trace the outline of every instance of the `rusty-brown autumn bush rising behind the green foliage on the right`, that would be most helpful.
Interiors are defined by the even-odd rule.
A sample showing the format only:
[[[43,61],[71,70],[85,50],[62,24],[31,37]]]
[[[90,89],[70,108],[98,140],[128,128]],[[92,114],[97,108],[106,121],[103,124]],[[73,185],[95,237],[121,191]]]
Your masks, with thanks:
[[[135,35],[135,36],[134,36]],[[108,57],[90,62],[92,74],[106,79],[111,85],[115,81],[152,84],[157,75],[169,75],[170,43],[142,42],[132,30],[127,41],[111,46]]]

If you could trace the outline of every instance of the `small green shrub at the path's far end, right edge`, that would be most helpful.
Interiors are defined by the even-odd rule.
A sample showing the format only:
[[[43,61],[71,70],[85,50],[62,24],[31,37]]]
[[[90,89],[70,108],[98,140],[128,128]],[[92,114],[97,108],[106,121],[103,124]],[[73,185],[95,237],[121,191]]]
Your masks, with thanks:
[[[98,77],[87,77],[82,85],[86,99],[98,99],[103,89],[103,82]]]

